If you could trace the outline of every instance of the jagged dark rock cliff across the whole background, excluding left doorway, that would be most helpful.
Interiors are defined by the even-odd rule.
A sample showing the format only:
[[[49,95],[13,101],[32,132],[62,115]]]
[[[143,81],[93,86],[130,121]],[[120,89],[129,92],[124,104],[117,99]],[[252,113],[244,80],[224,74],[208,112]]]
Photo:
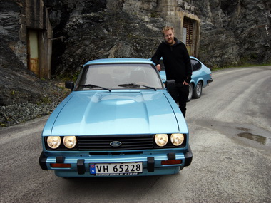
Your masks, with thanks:
[[[0,124],[14,119],[8,114],[12,108],[4,106],[61,100],[61,90],[34,76],[21,60],[26,42],[18,35],[26,1],[0,1]],[[71,77],[95,58],[149,58],[163,40],[161,28],[178,24],[177,10],[200,19],[198,58],[210,68],[271,62],[270,0],[44,0],[44,5],[53,38],[61,38],[53,41],[53,76]]]

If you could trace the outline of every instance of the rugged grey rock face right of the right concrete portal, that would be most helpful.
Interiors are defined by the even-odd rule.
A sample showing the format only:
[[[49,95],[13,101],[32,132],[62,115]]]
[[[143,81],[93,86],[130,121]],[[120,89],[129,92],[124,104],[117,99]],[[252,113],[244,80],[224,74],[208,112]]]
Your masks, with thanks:
[[[271,62],[271,1],[193,1],[200,9],[200,58],[210,67]]]

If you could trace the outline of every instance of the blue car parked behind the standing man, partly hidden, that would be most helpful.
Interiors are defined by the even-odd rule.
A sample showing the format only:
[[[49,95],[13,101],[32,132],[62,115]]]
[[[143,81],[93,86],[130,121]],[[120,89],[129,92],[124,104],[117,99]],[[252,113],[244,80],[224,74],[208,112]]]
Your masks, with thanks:
[[[205,88],[209,83],[213,82],[212,72],[210,68],[205,66],[198,58],[190,56],[191,64],[192,64],[192,77],[189,84],[189,95],[188,101],[192,98],[200,98],[203,88]],[[165,67],[163,66],[163,58],[160,59],[161,64],[161,71],[160,76],[165,83],[166,76],[165,76]]]

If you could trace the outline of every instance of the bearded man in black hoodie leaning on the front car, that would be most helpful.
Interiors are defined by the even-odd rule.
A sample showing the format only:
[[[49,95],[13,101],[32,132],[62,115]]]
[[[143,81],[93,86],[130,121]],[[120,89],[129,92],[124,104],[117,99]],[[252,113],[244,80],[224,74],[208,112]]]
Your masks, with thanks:
[[[157,51],[151,58],[156,64],[156,68],[160,71],[159,60],[163,57],[165,66],[165,75],[167,80],[175,80],[176,88],[170,89],[169,93],[185,117],[186,101],[188,100],[189,88],[191,80],[192,67],[185,44],[174,37],[174,29],[166,26],[163,28],[164,41],[160,43]]]

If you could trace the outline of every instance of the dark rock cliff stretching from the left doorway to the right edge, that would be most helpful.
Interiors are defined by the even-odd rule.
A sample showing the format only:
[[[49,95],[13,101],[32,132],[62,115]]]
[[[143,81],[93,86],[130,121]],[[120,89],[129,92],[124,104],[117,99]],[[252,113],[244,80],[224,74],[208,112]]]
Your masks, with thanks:
[[[173,24],[161,12],[169,1],[62,2],[66,6],[51,6],[55,35],[66,37],[54,50],[58,74],[78,70],[93,58],[148,58],[163,40],[160,29]],[[201,19],[198,57],[210,68],[271,61],[270,1],[178,1],[181,9],[185,5]]]

